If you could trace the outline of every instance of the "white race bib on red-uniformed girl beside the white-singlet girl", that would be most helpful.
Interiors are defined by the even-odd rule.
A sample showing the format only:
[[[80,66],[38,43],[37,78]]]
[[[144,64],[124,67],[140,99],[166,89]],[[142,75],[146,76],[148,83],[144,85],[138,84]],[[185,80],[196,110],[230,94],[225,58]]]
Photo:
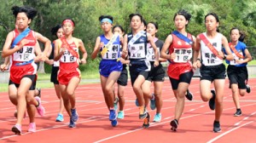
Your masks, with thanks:
[[[176,58],[173,60],[177,63],[186,63],[192,58],[192,48],[189,49],[174,49]]]

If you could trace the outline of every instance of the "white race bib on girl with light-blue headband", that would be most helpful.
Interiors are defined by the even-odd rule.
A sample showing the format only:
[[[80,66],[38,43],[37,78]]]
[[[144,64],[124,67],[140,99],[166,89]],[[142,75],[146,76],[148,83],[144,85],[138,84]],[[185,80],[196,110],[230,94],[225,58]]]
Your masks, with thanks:
[[[106,54],[103,54],[102,59],[117,60],[119,58],[119,44],[113,44],[112,49],[108,49]]]

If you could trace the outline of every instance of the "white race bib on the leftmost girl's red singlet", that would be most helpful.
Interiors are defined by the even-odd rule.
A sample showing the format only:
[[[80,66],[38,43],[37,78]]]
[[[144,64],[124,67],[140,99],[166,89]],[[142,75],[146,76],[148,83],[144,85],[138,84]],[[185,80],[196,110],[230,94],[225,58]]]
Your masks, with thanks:
[[[24,46],[14,53],[15,61],[29,61],[35,57],[34,46]]]

